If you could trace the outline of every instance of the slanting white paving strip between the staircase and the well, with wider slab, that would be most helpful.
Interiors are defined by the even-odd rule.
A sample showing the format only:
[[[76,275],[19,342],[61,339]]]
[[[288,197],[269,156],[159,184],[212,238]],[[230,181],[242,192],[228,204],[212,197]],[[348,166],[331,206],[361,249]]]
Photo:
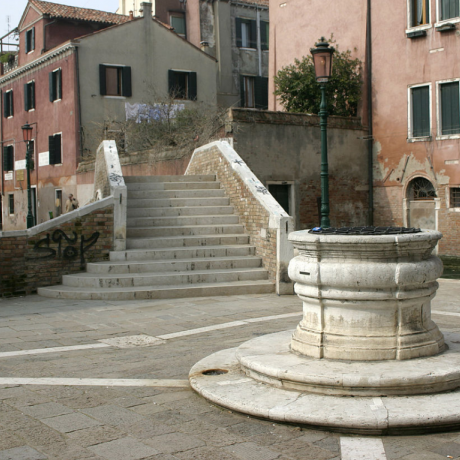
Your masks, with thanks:
[[[272,315],[272,316],[261,316],[259,318],[245,319],[241,321],[232,321],[229,323],[216,324],[214,326],[199,327],[196,329],[190,329],[188,331],[173,332],[171,334],[159,335],[157,337],[152,337],[146,334],[132,335],[126,337],[112,337],[109,339],[98,340],[100,343],[86,344],[86,345],[72,345],[68,347],[50,347],[50,348],[37,348],[34,350],[18,350],[18,351],[6,351],[0,353],[0,358],[8,358],[12,356],[22,356],[22,355],[40,355],[43,353],[61,353],[65,351],[78,351],[86,350],[91,348],[107,348],[107,347],[118,347],[118,348],[131,348],[139,346],[151,346],[151,345],[160,345],[164,343],[165,340],[175,339],[179,337],[185,337],[188,335],[203,334],[205,332],[217,331],[220,329],[228,329],[230,327],[245,326],[252,323],[259,323],[263,321],[272,321],[276,319],[291,318],[295,316],[300,316],[301,312],[296,313],[285,313],[282,315]]]

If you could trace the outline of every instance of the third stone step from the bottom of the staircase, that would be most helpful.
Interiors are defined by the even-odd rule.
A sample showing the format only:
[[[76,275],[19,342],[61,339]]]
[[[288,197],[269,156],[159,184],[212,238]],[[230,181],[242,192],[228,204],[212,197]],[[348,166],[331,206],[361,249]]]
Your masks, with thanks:
[[[134,260],[89,263],[87,273],[127,275],[129,273],[187,272],[201,270],[228,270],[259,268],[262,259],[256,256],[237,257],[196,257],[177,260]]]

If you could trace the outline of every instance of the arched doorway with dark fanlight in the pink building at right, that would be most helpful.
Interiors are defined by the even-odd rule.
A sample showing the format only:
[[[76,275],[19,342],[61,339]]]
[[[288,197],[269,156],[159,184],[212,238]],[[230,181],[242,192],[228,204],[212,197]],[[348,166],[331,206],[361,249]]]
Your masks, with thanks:
[[[436,190],[424,177],[416,177],[407,186],[407,224],[409,227],[437,229]]]

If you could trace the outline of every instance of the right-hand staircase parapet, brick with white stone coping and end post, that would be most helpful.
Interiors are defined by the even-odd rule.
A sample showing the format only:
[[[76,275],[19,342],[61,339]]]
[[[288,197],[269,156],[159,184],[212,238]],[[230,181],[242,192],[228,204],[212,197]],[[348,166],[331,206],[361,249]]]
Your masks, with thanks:
[[[287,235],[294,228],[293,220],[241,157],[227,142],[213,142],[195,150],[185,174],[216,174],[270,279],[276,283],[277,293],[292,294],[287,266],[293,253]]]

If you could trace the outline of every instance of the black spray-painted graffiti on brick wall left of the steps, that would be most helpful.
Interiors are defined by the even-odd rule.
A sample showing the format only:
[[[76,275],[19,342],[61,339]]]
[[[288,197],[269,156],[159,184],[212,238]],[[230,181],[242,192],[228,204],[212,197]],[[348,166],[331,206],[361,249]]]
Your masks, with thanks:
[[[37,256],[29,257],[29,259],[57,258],[73,260],[80,255],[80,263],[83,267],[85,264],[85,253],[96,244],[99,235],[99,232],[94,232],[89,238],[81,235],[80,244],[78,244],[78,236],[75,232],[72,232],[72,236],[68,236],[60,229],[55,230],[51,235],[47,233],[44,238],[35,243],[33,251],[37,253]],[[51,247],[52,242],[57,243],[56,249]]]

